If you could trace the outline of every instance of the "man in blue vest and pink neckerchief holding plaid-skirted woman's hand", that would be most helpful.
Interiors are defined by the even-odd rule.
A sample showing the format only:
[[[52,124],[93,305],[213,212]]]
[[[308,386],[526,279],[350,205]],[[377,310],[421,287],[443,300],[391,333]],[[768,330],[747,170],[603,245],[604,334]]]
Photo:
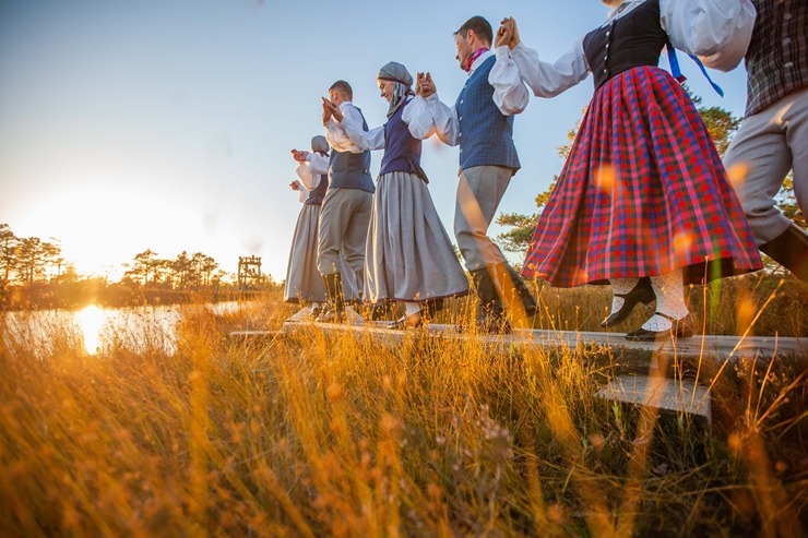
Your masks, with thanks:
[[[460,145],[460,178],[454,235],[479,297],[477,325],[485,332],[509,333],[514,320],[536,313],[536,301],[519,273],[488,237],[511,177],[519,170],[513,145],[513,115],[527,106],[527,88],[514,71],[498,69],[508,46],[490,50],[491,25],[474,16],[454,33],[460,68],[468,81],[452,108],[438,100],[431,76],[419,76],[420,94],[433,107],[438,136]],[[418,97],[416,97],[417,99]]]

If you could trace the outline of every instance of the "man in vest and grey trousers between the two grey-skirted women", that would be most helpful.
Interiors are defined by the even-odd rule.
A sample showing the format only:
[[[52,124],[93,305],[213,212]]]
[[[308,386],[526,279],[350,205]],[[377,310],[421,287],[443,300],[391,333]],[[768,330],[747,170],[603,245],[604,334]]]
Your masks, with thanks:
[[[332,107],[337,107],[343,116],[350,116],[367,131],[361,110],[350,103],[353,97],[350,85],[336,81],[329,88],[330,100],[323,99],[322,120],[333,152],[328,169],[329,190],[320,210],[317,268],[325,283],[328,303],[317,318],[319,322],[344,322],[342,279],[355,279],[360,292],[365,280],[365,239],[376,190],[370,177],[370,152],[350,142],[332,118]],[[305,155],[302,159],[306,159]],[[341,252],[350,275],[340,273]]]

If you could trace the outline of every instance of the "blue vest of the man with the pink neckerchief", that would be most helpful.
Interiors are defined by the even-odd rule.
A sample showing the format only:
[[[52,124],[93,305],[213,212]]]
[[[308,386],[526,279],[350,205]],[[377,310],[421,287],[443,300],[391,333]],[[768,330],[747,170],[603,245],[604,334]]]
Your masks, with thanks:
[[[474,166],[520,168],[513,145],[513,116],[504,116],[494,104],[488,73],[491,56],[474,70],[458,96],[454,109],[460,120],[460,171]]]

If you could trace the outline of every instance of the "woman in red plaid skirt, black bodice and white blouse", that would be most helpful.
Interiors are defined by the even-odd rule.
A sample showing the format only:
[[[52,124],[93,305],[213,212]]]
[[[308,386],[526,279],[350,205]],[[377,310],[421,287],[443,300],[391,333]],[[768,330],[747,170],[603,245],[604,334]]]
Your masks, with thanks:
[[[669,41],[740,55],[749,0],[604,0],[607,21],[555,63],[522,45],[513,19],[497,45],[539,97],[593,73],[595,94],[531,241],[522,274],[554,286],[611,284],[613,326],[639,303],[655,313],[626,338],[690,336],[684,285],[762,267],[744,212],[696,106],[657,67]],[[735,36],[736,39],[730,39]],[[742,40],[742,39],[741,39]]]

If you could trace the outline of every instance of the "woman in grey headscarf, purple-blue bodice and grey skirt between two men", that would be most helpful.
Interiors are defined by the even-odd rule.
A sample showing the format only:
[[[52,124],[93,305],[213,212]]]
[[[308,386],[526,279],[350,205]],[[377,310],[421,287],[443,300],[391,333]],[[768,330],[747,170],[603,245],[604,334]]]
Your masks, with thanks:
[[[392,328],[423,325],[425,307],[468,294],[468,279],[460,265],[429,194],[420,167],[421,140],[435,131],[431,118],[412,118],[413,77],[401,63],[379,71],[377,83],[388,100],[388,122],[364,131],[343,118],[334,119],[359,147],[384,148],[365,248],[365,298],[404,302],[405,315]]]

